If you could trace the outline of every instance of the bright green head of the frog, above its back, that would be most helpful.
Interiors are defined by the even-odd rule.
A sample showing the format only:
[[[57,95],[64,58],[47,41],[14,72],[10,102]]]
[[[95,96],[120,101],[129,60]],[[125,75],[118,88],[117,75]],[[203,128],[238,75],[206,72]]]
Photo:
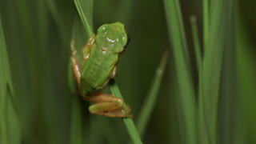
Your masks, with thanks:
[[[103,24],[98,28],[96,43],[112,53],[123,54],[129,42],[126,27],[120,22]]]

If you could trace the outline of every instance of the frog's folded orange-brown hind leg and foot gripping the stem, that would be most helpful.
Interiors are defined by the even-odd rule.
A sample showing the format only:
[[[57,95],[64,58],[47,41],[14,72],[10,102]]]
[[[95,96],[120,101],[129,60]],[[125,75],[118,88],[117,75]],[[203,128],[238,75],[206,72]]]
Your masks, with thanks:
[[[99,93],[84,99],[86,101],[95,102],[94,105],[89,107],[91,114],[99,114],[111,118],[133,118],[133,115],[129,114],[130,106],[122,107],[124,102],[121,98],[114,97],[110,94]]]

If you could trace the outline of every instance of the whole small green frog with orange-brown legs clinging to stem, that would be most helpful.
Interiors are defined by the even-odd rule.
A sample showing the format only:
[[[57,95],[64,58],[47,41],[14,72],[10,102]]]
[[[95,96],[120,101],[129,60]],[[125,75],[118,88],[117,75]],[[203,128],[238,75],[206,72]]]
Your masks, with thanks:
[[[74,77],[83,99],[95,102],[89,107],[90,113],[107,117],[133,117],[128,105],[122,107],[124,101],[121,98],[102,93],[110,78],[115,78],[119,55],[124,53],[129,42],[122,23],[104,24],[98,28],[97,35],[92,34],[82,47],[83,64],[79,62],[74,42],[71,42]]]

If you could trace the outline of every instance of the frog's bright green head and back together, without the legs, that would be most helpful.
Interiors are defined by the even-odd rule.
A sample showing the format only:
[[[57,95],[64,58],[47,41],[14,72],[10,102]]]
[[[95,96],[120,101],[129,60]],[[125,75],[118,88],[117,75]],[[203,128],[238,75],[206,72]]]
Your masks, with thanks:
[[[82,69],[81,90],[83,96],[90,96],[107,85],[118,55],[129,42],[125,26],[120,22],[104,24],[98,28],[90,56]]]

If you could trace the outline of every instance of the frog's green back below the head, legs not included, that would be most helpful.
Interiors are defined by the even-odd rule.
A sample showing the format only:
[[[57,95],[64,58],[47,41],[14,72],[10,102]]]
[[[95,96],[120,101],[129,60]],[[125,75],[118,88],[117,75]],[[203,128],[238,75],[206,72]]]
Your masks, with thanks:
[[[100,46],[94,45],[82,69],[82,95],[90,96],[105,88],[110,80],[114,66],[118,62],[118,54],[108,53]]]

